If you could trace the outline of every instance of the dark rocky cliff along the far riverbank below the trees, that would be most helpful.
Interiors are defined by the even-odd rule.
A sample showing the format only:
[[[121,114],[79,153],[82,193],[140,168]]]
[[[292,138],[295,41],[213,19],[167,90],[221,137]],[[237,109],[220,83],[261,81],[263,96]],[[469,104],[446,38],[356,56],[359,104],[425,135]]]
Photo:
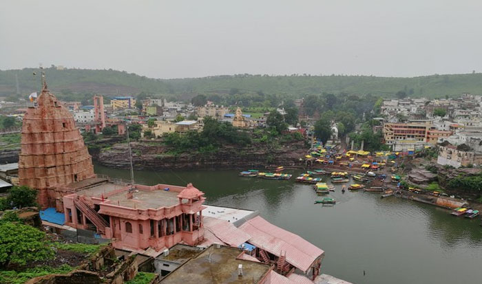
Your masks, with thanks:
[[[174,168],[264,168],[265,166],[301,165],[300,157],[308,149],[304,142],[285,144],[277,149],[264,145],[239,148],[224,146],[214,153],[169,153],[163,145],[133,142],[132,162],[134,169],[174,169]],[[96,155],[96,162],[112,168],[129,168],[127,144],[115,144]]]

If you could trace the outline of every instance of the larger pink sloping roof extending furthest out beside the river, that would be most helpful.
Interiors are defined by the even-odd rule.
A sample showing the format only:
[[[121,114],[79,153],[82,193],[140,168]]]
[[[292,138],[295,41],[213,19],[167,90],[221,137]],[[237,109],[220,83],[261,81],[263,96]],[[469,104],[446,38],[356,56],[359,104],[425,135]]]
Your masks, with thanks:
[[[277,256],[286,252],[286,261],[306,272],[324,251],[297,234],[274,226],[257,216],[243,223],[240,230],[251,235],[249,243]]]

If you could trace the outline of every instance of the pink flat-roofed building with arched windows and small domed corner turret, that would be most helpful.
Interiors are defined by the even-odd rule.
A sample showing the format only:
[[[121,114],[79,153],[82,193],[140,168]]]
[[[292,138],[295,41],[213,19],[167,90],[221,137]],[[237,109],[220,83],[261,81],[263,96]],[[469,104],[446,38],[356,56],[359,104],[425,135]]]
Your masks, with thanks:
[[[192,184],[143,186],[91,180],[63,197],[65,225],[97,230],[116,248],[164,250],[204,240],[205,201]]]

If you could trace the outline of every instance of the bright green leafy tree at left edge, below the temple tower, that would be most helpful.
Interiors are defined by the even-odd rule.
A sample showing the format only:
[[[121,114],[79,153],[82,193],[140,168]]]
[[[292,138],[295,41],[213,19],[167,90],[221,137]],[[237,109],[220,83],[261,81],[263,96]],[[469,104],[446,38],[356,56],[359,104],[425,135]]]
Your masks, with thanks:
[[[30,261],[43,261],[54,256],[45,233],[31,226],[9,221],[0,222],[0,265],[25,265]]]

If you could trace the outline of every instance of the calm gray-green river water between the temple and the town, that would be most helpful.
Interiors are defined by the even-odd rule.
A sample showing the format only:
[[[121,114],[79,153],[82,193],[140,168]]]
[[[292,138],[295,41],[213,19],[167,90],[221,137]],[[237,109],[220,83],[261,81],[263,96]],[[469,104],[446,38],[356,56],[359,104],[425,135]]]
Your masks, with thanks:
[[[129,171],[95,166],[96,173],[129,179]],[[258,210],[276,226],[299,234],[325,251],[322,273],[353,283],[482,283],[480,218],[453,217],[447,210],[375,193],[329,194],[311,185],[238,177],[238,171],[135,171],[136,183],[192,182],[207,204]],[[364,271],[366,275],[364,276]]]

